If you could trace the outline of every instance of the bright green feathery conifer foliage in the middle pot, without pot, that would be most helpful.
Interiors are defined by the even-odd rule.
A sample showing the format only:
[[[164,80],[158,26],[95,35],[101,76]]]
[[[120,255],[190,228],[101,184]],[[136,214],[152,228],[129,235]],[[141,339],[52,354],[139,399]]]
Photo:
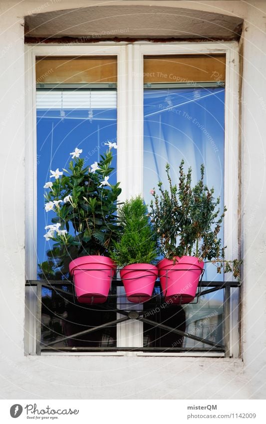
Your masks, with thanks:
[[[122,232],[114,242],[110,257],[120,267],[129,264],[153,263],[157,257],[156,233],[140,196],[126,201],[119,208]]]

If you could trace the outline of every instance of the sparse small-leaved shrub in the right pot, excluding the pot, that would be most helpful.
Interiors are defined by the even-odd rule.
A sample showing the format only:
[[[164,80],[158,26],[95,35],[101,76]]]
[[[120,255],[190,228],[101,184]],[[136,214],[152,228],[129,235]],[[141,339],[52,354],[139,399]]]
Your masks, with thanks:
[[[176,256],[196,256],[217,266],[217,272],[233,272],[240,275],[242,261],[225,260],[225,248],[219,237],[226,208],[220,213],[220,198],[214,197],[214,189],[204,184],[204,165],[201,165],[201,178],[192,186],[192,169],[184,172],[184,160],[179,166],[179,185],[173,185],[170,166],[166,165],[169,190],[158,183],[159,195],[151,190],[151,222],[160,242],[161,252],[173,260]]]

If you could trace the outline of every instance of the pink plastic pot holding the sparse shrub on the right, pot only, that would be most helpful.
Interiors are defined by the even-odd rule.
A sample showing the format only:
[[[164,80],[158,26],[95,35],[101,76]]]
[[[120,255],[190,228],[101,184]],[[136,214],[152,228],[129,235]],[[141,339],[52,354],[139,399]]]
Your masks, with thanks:
[[[176,257],[176,262],[163,259],[157,264],[166,302],[190,303],[194,300],[204,262],[194,256]]]

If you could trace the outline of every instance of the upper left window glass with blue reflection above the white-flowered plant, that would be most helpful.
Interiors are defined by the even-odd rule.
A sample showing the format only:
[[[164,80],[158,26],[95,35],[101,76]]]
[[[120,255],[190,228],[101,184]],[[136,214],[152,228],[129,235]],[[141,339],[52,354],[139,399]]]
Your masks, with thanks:
[[[52,243],[43,229],[53,215],[44,210],[50,169],[66,168],[69,153],[82,149],[86,166],[100,160],[105,143],[117,141],[116,57],[37,58],[37,262],[47,260]],[[78,82],[77,82],[78,81]],[[115,171],[110,183],[116,183]],[[53,214],[53,215],[52,215]],[[49,216],[48,216],[49,215]],[[48,219],[48,221],[47,221]]]

